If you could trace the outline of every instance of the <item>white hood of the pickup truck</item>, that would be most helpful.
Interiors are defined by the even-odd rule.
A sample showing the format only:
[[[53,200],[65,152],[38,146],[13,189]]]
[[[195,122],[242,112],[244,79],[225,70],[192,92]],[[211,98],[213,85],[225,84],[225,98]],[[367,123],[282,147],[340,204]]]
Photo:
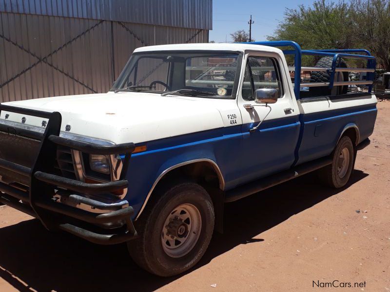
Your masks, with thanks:
[[[146,142],[223,127],[215,103],[206,98],[160,96],[146,92],[108,92],[4,103],[21,108],[59,111],[61,131],[118,143]],[[0,118],[42,127],[42,118],[1,111]],[[69,128],[69,126],[68,126]]]

